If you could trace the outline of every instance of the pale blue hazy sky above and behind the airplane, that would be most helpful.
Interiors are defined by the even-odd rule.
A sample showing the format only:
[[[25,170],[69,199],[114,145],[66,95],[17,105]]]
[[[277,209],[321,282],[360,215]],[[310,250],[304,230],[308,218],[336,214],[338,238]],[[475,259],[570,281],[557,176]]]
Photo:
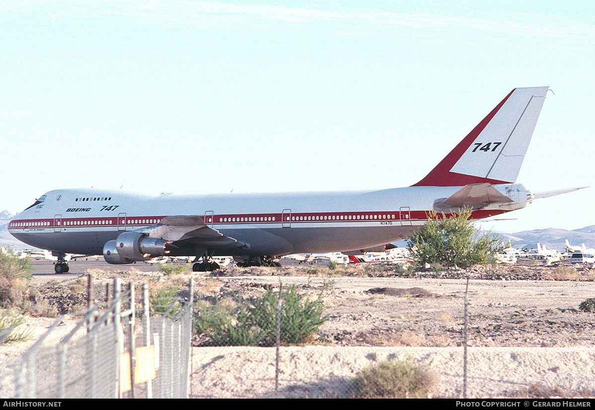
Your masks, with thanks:
[[[62,187],[409,186],[531,86],[555,95],[518,181],[595,186],[595,8],[477,3],[0,1],[0,211]],[[593,225],[594,197],[484,227]]]

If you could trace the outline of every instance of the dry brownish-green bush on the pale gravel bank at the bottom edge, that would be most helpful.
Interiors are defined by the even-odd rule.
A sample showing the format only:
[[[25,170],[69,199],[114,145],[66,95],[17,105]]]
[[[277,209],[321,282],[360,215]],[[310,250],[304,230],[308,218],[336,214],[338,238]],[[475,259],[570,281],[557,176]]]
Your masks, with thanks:
[[[353,397],[358,399],[427,398],[436,383],[433,374],[414,366],[412,360],[382,361],[370,365],[353,380]]]

